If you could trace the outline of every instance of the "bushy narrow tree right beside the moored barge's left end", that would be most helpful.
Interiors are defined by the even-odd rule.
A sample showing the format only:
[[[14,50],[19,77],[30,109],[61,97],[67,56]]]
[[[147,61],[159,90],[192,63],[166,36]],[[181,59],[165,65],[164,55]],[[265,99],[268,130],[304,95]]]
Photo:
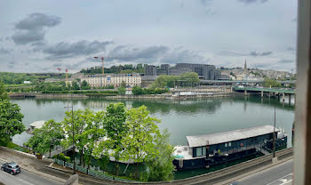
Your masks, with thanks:
[[[171,181],[174,178],[175,166],[172,164],[174,149],[169,140],[170,133],[167,129],[163,130],[162,134],[158,134],[156,138],[158,155],[154,159],[147,161],[149,168],[148,181]]]

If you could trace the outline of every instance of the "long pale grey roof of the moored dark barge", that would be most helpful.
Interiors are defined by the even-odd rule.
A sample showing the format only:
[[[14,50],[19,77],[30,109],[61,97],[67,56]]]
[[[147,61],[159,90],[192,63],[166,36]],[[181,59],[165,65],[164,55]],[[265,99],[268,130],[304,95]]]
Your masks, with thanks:
[[[265,135],[274,132],[274,126],[263,125],[251,128],[239,129],[234,131],[227,131],[224,133],[211,133],[204,135],[186,136],[189,147],[203,147],[206,145],[214,145],[229,141],[238,141],[259,135]],[[279,132],[275,128],[275,132]],[[208,141],[208,144],[207,144]]]

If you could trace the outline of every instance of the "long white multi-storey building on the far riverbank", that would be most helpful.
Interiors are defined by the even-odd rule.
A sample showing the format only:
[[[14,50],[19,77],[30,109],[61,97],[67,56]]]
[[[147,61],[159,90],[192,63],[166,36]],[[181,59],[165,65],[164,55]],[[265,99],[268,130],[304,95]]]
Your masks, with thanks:
[[[125,82],[127,87],[140,86],[140,74],[107,74],[107,75],[86,75],[81,78],[81,82],[86,81],[92,87],[114,85],[121,86]]]

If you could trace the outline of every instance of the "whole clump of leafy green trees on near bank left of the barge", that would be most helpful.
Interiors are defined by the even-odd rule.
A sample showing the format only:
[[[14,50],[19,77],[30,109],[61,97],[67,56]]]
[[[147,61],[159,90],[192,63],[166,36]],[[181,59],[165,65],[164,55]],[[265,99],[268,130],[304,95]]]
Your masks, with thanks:
[[[55,146],[67,149],[75,143],[83,166],[89,168],[94,159],[105,166],[108,158],[114,157],[116,161],[134,162],[137,168],[132,177],[137,180],[170,181],[174,171],[173,148],[169,144],[170,134],[167,130],[161,133],[158,123],[156,117],[149,117],[145,106],[125,109],[123,103],[111,103],[106,111],[66,112],[60,123],[50,120],[41,129],[35,129],[34,136],[24,145],[37,155],[49,151],[51,155]],[[114,164],[118,175],[119,163]]]

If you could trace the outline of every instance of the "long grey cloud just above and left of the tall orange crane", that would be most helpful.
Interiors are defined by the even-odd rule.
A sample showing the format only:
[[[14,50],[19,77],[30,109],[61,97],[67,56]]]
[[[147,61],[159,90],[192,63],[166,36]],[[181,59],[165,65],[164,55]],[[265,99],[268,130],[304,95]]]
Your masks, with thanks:
[[[48,54],[47,59],[65,59],[83,55],[94,54],[98,52],[104,52],[106,46],[112,44],[112,42],[100,42],[100,41],[78,41],[76,43],[57,43],[44,47],[43,52]]]

